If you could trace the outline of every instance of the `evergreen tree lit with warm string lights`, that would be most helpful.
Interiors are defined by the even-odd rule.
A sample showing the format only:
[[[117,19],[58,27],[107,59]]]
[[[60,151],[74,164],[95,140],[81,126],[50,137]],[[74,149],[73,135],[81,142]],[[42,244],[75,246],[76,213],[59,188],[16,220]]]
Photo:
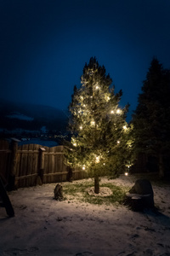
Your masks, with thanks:
[[[110,75],[95,58],[83,68],[81,86],[74,88],[70,104],[72,132],[67,164],[79,166],[94,177],[94,191],[99,193],[99,177],[122,172],[130,158],[131,142],[125,119],[127,108],[118,107],[122,90],[114,93]]]

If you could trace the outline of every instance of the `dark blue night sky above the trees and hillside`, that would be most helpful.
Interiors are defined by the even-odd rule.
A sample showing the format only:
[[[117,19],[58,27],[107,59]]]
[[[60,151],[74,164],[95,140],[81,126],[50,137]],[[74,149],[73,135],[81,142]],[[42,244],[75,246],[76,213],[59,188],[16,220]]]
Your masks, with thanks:
[[[0,0],[0,98],[66,109],[96,56],[132,111],[152,57],[170,68],[169,14],[169,0]]]

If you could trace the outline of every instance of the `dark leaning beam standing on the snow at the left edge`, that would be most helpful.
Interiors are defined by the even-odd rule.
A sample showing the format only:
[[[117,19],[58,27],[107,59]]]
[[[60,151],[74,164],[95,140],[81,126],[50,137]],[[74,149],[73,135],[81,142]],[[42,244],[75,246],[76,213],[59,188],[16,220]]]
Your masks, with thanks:
[[[1,206],[5,207],[8,217],[14,217],[14,209],[8,198],[7,191],[3,186],[3,181],[1,177],[0,177],[0,197],[2,198],[2,201],[3,201],[3,204]]]

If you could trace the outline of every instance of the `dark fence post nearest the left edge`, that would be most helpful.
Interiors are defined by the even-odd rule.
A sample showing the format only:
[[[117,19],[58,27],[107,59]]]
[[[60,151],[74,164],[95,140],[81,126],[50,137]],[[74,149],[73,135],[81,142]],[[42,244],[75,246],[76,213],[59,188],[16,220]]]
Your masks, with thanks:
[[[18,143],[20,140],[15,138],[11,139],[11,159],[10,159],[10,168],[8,175],[8,190],[15,189],[15,174],[16,174],[16,153],[18,150]]]

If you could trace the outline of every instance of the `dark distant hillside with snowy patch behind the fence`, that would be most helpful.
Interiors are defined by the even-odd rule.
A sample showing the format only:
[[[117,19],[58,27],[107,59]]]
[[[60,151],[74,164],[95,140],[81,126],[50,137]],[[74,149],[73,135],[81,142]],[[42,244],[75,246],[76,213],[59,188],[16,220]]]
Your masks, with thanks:
[[[1,129],[39,131],[46,126],[48,131],[63,132],[67,122],[67,115],[58,108],[0,100]]]

